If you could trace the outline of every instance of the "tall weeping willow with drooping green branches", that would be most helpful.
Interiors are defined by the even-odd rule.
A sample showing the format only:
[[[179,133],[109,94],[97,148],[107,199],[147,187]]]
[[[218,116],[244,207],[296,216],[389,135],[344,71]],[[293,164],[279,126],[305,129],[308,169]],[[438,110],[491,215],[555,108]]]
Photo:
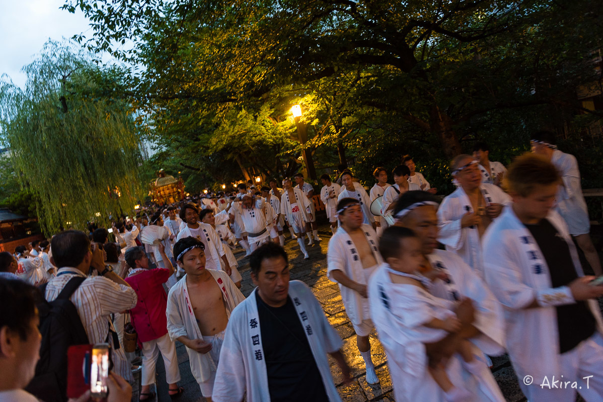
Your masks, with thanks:
[[[0,82],[0,135],[46,234],[130,211],[142,196],[140,138],[130,105],[103,96],[119,71],[49,42],[24,67],[25,88]]]

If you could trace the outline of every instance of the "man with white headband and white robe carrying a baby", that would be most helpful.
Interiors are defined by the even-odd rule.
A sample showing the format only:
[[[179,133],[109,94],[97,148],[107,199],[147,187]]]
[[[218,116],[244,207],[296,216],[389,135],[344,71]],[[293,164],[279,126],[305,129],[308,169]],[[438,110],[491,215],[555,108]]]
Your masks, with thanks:
[[[478,376],[469,373],[461,364],[458,354],[453,354],[456,338],[467,339],[475,345],[476,359],[485,362],[483,353],[497,355],[504,349],[504,320],[502,308],[479,276],[454,253],[437,250],[438,200],[425,191],[408,191],[400,196],[394,209],[396,225],[412,229],[420,239],[425,258],[423,274],[439,269],[448,274],[449,280],[434,280],[430,293],[449,301],[469,298],[459,305],[456,314],[463,327],[442,341],[433,344],[417,344],[404,338],[396,326],[396,294],[391,286],[385,267],[379,267],[371,276],[368,295],[371,301],[371,317],[377,327],[379,340],[388,355],[388,366],[396,401],[444,402],[444,391],[435,383],[427,370],[428,360],[445,362],[449,379],[475,395],[466,402],[503,402],[505,398],[487,365]],[[424,359],[411,360],[424,356]]]

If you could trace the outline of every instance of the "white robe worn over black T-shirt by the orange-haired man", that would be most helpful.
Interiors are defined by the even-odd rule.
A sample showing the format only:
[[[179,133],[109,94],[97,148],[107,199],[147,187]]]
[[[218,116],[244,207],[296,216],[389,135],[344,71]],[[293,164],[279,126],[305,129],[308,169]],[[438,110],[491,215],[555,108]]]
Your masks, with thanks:
[[[566,241],[576,273],[584,276],[563,218],[555,211],[549,212],[546,218]],[[561,379],[563,374],[558,352],[557,308],[525,308],[538,294],[551,290],[549,267],[540,247],[511,206],[505,207],[496,223],[488,227],[483,246],[488,256],[485,280],[505,307],[507,350],[519,385],[524,394],[529,395],[530,387],[523,384],[523,377],[532,376],[534,383],[531,386],[540,389],[538,384],[543,383],[545,376],[551,381],[552,376]],[[595,317],[598,332],[603,333],[603,320],[596,300],[588,300],[587,305]],[[568,379],[575,380],[579,379]]]

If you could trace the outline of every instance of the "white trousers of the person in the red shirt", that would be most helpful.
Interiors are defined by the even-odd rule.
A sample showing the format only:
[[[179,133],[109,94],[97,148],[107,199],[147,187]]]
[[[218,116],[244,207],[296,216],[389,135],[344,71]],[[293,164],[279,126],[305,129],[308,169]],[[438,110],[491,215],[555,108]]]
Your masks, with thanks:
[[[142,342],[142,385],[155,383],[155,366],[159,358],[159,351],[161,351],[165,364],[166,382],[174,384],[180,381],[176,344],[169,339],[169,335],[166,333],[161,338]]]

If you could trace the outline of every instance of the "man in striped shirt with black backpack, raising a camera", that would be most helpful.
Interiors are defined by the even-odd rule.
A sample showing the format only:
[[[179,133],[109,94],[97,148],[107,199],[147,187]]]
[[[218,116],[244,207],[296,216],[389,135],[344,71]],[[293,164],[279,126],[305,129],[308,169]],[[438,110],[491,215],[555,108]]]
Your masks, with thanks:
[[[92,247],[91,247],[92,246]],[[136,306],[136,291],[121,279],[110,265],[104,264],[104,252],[90,244],[85,233],[66,230],[52,238],[52,260],[58,267],[57,276],[46,285],[45,298],[52,301],[74,276],[86,277],[95,270],[98,276],[87,277],[70,300],[74,303],[91,344],[109,343],[112,348],[113,371],[132,382],[130,365],[125,359],[111,314]]]

